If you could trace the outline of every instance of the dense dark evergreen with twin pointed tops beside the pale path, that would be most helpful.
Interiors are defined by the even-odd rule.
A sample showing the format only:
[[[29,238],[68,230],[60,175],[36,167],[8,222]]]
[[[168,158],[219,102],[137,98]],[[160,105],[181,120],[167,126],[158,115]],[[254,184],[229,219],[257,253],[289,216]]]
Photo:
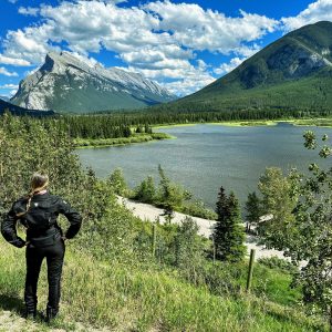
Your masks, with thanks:
[[[227,197],[225,189],[220,188],[216,212],[218,215],[214,230],[216,258],[229,261],[241,260],[246,253],[245,231],[239,203],[234,193]]]

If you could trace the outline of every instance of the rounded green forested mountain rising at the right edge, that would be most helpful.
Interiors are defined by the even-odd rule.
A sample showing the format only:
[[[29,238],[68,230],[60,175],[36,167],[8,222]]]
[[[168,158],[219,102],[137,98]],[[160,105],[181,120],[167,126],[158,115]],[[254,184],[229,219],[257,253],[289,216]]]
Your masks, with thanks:
[[[177,111],[332,111],[332,22],[294,30],[203,90]]]

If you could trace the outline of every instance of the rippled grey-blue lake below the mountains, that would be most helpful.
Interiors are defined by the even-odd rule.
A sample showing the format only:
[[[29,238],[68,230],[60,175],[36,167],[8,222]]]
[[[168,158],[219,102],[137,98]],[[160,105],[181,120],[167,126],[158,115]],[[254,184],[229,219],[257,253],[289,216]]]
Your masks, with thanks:
[[[159,129],[176,139],[76,152],[82,164],[91,166],[100,177],[121,167],[129,187],[138,185],[147,175],[153,175],[158,183],[160,164],[172,180],[215,208],[220,186],[234,190],[243,204],[248,193],[257,190],[266,167],[277,166],[284,172],[297,167],[305,172],[310,163],[320,162],[317,151],[303,146],[302,136],[309,129],[318,135],[332,134],[332,128],[288,123],[243,127],[199,124]],[[322,163],[328,165],[328,160]]]

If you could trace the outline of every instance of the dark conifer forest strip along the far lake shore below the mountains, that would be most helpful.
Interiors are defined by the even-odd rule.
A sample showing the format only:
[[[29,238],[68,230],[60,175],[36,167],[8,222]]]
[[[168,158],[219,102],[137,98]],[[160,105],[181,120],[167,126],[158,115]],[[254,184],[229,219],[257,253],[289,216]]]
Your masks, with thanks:
[[[162,110],[162,107],[160,107]],[[294,110],[247,110],[229,112],[122,112],[90,115],[61,115],[59,125],[76,138],[129,137],[132,133],[151,133],[152,125],[208,123],[246,120],[282,120],[330,116],[331,112]],[[48,122],[48,120],[43,120]]]

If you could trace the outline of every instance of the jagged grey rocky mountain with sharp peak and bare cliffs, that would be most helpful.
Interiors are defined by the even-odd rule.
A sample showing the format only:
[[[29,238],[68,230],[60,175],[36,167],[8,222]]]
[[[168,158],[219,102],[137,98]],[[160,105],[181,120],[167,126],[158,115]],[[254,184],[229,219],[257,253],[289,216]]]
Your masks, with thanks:
[[[11,102],[27,108],[83,113],[139,108],[175,98],[138,73],[104,69],[61,52],[49,53],[44,64],[20,82]]]

